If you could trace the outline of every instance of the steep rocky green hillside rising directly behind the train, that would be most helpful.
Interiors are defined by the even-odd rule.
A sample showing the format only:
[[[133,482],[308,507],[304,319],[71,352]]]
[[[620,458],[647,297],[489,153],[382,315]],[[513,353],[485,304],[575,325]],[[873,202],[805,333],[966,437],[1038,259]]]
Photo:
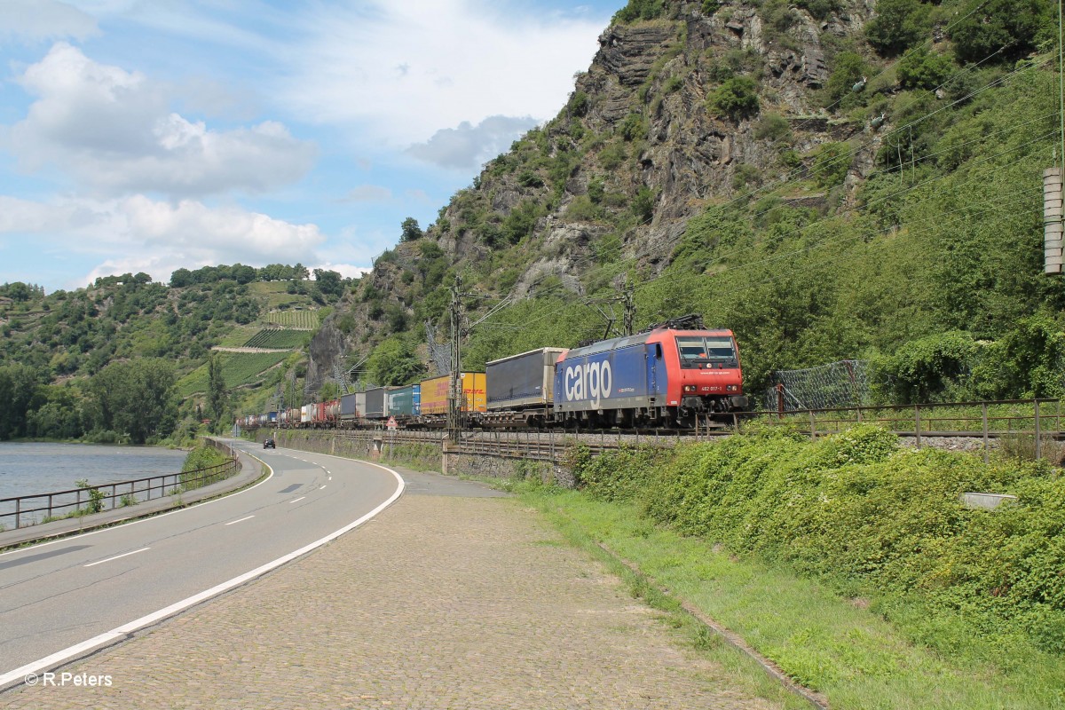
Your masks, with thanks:
[[[455,275],[474,311],[515,299],[465,366],[572,346],[603,335],[591,302],[628,280],[638,326],[701,312],[735,330],[751,392],[863,357],[888,398],[1058,394],[1055,32],[1048,0],[634,0],[556,118],[424,234],[405,226],[324,357],[424,376]]]

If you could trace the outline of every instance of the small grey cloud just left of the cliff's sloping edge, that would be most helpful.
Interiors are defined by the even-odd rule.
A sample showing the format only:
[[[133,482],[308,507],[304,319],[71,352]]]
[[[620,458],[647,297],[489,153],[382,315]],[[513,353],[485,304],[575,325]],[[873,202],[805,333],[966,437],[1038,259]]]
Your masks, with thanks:
[[[469,170],[510,148],[510,144],[536,125],[529,117],[507,116],[490,116],[476,127],[462,121],[458,128],[437,131],[426,143],[408,148],[407,153],[440,167]]]

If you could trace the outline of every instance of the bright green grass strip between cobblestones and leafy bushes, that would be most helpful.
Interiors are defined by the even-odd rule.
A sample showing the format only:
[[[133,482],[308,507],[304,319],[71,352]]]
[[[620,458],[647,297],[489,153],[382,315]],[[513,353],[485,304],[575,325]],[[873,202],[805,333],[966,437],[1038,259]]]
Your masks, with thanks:
[[[785,691],[753,661],[656,588],[739,633],[797,681],[823,693],[833,708],[1065,707],[1060,659],[1046,657],[1049,665],[1033,662],[1004,675],[966,656],[945,658],[911,641],[863,599],[840,597],[817,580],[658,528],[634,506],[591,500],[574,491],[518,486],[517,492],[570,542],[626,579],[634,595],[669,614],[670,623],[685,626],[692,645],[708,653],[735,682],[784,707],[810,706],[790,694],[784,697]],[[637,579],[609,559],[599,542],[653,582]]]

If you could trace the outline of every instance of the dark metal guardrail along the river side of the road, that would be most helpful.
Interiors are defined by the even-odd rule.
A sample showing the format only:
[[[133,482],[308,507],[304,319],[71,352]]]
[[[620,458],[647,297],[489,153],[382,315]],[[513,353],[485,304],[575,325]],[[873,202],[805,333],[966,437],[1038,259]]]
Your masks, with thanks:
[[[53,491],[52,493],[0,498],[0,511],[14,507],[14,510],[0,512],[0,523],[3,523],[6,518],[14,518],[14,529],[19,529],[29,525],[47,523],[65,515],[79,514],[83,510],[83,506],[84,513],[81,514],[98,513],[122,506],[132,506],[144,500],[151,500],[153,495],[155,498],[160,498],[208,485],[209,483],[226,478],[240,467],[240,462],[232,447],[214,440],[208,440],[208,442],[229,456],[229,460],[226,463],[183,473],[163,474],[161,476],[150,476],[148,478],[118,481],[115,483],[101,483],[99,485],[88,485],[68,491]],[[109,489],[110,494],[104,493]],[[167,493],[167,489],[169,489],[169,493]],[[96,493],[92,493],[94,491]],[[110,506],[108,501],[110,501]],[[56,514],[59,511],[68,508],[72,508],[73,511],[68,511],[60,515]],[[40,519],[37,519],[39,513],[44,513],[44,515],[40,515]],[[29,523],[23,518],[29,518]],[[11,528],[4,525],[4,529]]]

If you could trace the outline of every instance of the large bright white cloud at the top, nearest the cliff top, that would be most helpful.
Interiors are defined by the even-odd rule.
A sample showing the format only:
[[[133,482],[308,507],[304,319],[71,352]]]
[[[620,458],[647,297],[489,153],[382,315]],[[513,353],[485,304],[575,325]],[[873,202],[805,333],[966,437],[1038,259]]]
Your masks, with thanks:
[[[358,122],[368,141],[391,146],[489,116],[548,118],[566,103],[574,68],[589,65],[606,19],[499,0],[356,5],[305,15],[279,99],[306,120]]]

